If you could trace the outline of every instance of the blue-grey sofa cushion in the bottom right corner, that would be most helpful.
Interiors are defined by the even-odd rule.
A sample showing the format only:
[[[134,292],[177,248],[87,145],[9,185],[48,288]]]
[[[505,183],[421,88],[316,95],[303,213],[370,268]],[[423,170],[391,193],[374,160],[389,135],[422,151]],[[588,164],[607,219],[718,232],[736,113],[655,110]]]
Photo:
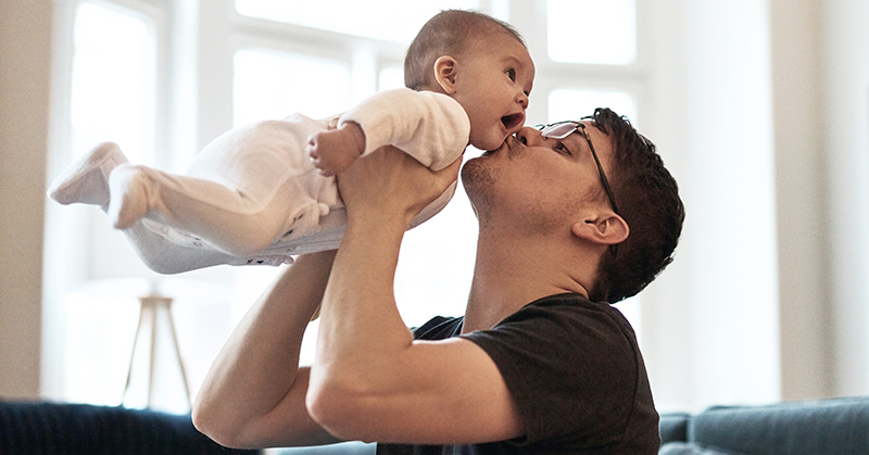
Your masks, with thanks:
[[[688,440],[751,455],[869,454],[869,397],[713,407],[691,420]]]

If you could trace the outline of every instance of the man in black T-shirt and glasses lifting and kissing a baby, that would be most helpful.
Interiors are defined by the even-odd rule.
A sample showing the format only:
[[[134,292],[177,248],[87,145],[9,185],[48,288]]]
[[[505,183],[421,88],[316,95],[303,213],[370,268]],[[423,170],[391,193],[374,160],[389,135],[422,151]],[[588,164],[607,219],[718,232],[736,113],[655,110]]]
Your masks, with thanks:
[[[633,332],[594,302],[639,292],[678,241],[683,208],[654,146],[599,110],[524,128],[470,160],[474,281],[464,319],[417,330],[437,341],[404,327],[392,279],[404,228],[458,165],[432,174],[402,155],[382,150],[339,176],[340,249],[300,257],[254,305],[198,396],[197,427],[235,446],[353,439],[383,443],[380,453],[656,453]],[[315,364],[298,368],[320,302]]]

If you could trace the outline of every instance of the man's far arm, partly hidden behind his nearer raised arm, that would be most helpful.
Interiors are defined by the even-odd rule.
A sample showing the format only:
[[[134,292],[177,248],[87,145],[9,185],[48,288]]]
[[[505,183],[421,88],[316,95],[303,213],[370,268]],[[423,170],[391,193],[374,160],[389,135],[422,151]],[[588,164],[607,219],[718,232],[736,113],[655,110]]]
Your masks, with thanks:
[[[235,447],[336,442],[307,415],[310,371],[299,368],[302,336],[333,258],[335,251],[300,256],[248,312],[197,396],[200,431]]]

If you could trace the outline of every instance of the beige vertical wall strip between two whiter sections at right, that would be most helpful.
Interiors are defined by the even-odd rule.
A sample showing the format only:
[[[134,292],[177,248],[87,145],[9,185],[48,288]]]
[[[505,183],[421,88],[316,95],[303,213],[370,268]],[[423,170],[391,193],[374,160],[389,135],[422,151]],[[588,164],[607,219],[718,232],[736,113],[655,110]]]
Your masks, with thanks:
[[[828,396],[820,8],[816,0],[772,0],[770,11],[782,397]]]

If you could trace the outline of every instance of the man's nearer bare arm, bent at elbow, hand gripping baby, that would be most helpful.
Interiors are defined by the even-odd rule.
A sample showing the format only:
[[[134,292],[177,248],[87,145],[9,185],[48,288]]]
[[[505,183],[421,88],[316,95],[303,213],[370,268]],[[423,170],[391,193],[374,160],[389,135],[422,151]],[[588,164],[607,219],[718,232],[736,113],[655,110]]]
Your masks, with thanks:
[[[415,342],[395,307],[403,232],[457,169],[455,163],[432,174],[385,148],[339,176],[348,226],[324,298],[307,394],[312,417],[332,434],[449,444],[525,432],[482,349],[464,339]]]

